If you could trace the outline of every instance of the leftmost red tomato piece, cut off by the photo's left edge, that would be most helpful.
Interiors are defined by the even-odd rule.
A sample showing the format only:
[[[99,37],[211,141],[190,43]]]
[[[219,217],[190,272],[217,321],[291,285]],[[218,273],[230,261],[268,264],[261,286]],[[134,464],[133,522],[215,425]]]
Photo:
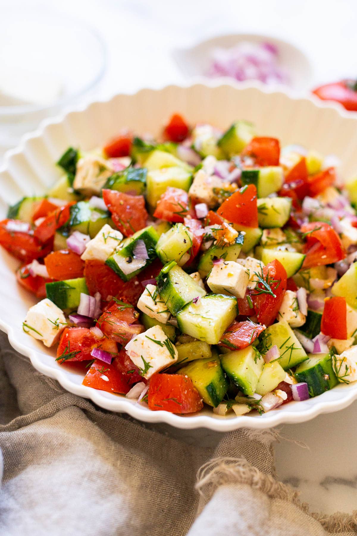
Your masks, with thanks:
[[[27,225],[27,230],[11,230],[16,225],[22,224],[23,229]],[[20,227],[19,227],[20,228]],[[10,230],[9,230],[10,229]],[[23,263],[30,263],[33,259],[45,257],[52,249],[52,243],[41,244],[33,236],[30,224],[25,224],[19,220],[3,220],[0,222],[0,245],[11,255],[21,260]]]

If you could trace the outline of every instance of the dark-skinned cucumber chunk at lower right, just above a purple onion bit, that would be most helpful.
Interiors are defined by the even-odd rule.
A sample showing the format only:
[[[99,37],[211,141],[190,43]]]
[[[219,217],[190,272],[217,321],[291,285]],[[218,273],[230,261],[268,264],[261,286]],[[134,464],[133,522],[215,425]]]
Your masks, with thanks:
[[[295,378],[298,382],[308,384],[310,397],[316,397],[325,391],[329,391],[338,384],[338,379],[333,370],[332,354],[309,354],[295,370]]]

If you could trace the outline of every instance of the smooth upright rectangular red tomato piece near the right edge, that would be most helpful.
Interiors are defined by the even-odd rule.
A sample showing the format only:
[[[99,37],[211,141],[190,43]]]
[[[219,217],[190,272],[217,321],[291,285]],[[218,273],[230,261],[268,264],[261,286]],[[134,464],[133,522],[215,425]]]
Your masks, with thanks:
[[[347,339],[346,298],[333,296],[325,299],[321,331],[333,339]]]

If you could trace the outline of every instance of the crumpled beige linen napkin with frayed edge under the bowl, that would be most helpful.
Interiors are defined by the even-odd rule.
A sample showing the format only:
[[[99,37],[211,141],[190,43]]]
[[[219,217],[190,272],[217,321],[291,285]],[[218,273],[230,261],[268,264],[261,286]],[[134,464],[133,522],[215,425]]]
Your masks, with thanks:
[[[4,334],[0,347],[0,534],[357,534],[356,514],[310,515],[275,479],[276,432],[187,445],[65,392]]]

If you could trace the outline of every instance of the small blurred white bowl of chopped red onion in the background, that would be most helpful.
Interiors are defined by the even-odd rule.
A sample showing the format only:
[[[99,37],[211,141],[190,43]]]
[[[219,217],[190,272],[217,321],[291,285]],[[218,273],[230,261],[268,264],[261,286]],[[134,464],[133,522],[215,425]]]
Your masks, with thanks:
[[[312,84],[307,56],[293,44],[257,34],[222,35],[173,51],[187,77],[228,77],[305,90]]]

